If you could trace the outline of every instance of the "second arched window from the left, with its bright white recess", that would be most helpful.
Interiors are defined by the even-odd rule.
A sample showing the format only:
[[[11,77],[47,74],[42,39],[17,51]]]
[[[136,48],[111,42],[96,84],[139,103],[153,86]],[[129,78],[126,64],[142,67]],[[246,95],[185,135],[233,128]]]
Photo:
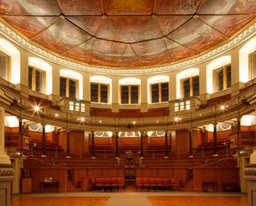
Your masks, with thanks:
[[[51,94],[53,91],[53,67],[42,59],[28,57],[28,88]]]

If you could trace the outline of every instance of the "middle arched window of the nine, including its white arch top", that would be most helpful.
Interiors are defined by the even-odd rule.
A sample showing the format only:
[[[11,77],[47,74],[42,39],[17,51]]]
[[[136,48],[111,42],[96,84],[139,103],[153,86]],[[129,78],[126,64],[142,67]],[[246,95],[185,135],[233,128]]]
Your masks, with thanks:
[[[141,80],[137,78],[119,79],[119,103],[139,104]]]

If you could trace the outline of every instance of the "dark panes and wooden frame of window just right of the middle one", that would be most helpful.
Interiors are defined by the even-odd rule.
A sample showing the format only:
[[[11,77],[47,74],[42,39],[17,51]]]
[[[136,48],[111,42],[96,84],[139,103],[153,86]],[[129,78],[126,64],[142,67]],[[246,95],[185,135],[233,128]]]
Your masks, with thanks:
[[[169,83],[150,84],[151,103],[163,103],[169,101]]]

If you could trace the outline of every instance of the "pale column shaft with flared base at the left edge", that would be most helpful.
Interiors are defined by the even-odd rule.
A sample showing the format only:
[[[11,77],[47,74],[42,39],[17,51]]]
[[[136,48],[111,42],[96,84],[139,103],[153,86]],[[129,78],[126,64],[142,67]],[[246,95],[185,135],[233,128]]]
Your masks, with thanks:
[[[10,157],[4,152],[4,108],[0,107],[0,163],[11,164]]]

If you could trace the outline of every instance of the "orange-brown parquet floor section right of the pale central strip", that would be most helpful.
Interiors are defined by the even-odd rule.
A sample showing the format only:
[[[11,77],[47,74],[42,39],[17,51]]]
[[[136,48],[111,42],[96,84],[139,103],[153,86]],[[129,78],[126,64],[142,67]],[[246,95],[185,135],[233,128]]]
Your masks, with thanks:
[[[154,206],[247,206],[246,196],[229,196],[229,197],[148,197]]]

